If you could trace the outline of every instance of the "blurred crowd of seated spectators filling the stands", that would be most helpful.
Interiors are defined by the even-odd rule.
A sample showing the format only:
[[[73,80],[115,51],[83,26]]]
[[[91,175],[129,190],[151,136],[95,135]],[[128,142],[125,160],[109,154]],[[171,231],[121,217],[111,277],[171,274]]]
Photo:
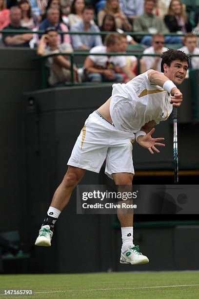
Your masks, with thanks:
[[[46,59],[52,86],[70,81],[71,69],[75,82],[128,82],[138,74],[137,58],[109,52],[126,53],[129,45],[140,44],[143,54],[153,55],[142,56],[140,71],[160,71],[159,55],[167,44],[199,54],[193,34],[198,19],[199,11],[190,18],[181,0],[0,0],[0,46],[37,48],[41,56],[57,53]],[[42,33],[35,33],[38,30]],[[103,31],[112,33],[92,34]],[[71,67],[67,54],[74,50],[89,51],[81,69]],[[199,68],[199,57],[193,57],[191,68]]]

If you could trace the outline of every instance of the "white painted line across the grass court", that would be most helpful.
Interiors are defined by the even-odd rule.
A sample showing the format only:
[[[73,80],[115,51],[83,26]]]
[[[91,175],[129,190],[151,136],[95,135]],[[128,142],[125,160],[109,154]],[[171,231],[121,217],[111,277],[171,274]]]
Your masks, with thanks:
[[[159,285],[152,287],[134,287],[134,288],[110,288],[110,289],[82,289],[82,290],[65,290],[65,291],[43,291],[43,292],[34,292],[34,294],[39,293],[63,293],[63,292],[88,292],[88,291],[121,291],[121,290],[142,290],[142,289],[157,289],[157,288],[177,288],[177,287],[186,287],[186,286],[199,286],[199,284],[181,284],[181,285]]]

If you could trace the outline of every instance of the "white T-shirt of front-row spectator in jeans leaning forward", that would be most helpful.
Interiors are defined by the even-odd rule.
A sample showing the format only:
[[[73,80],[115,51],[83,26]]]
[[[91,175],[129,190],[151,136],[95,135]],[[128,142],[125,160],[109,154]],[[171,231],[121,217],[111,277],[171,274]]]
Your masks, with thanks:
[[[124,56],[96,56],[92,53],[106,53],[106,46],[100,45],[90,50],[89,58],[102,68],[106,68],[107,62],[112,63],[115,66],[123,67],[126,65]]]

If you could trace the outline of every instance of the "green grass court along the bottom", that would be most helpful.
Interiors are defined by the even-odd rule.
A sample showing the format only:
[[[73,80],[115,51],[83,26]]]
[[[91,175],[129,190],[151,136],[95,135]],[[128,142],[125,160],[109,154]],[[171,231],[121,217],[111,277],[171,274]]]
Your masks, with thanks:
[[[0,298],[198,299],[199,272],[2,275],[0,289],[34,290]]]

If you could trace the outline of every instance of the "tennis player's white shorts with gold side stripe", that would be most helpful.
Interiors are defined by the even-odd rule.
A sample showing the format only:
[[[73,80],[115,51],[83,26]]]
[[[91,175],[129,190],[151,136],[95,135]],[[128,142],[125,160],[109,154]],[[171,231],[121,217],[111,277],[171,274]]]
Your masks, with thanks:
[[[99,173],[106,159],[105,173],[110,178],[112,173],[134,174],[134,141],[134,133],[118,130],[94,111],[85,121],[67,164]]]

